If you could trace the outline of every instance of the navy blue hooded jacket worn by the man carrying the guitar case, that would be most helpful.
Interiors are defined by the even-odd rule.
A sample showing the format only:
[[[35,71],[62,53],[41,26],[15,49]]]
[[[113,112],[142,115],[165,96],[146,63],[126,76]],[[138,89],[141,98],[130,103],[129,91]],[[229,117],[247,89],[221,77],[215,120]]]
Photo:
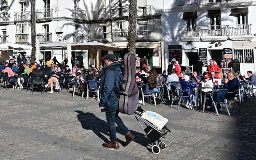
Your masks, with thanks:
[[[119,103],[119,85],[123,81],[123,73],[118,63],[103,68],[100,82],[101,99],[99,106],[105,107],[101,112],[117,111]]]

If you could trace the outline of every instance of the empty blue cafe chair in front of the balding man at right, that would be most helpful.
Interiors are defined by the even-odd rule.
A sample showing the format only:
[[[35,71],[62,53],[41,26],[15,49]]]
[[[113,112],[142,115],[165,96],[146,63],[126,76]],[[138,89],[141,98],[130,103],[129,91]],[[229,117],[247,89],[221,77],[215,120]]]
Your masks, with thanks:
[[[228,106],[227,106],[227,103],[225,101],[227,93],[228,93],[227,89],[219,89],[219,90],[215,90],[215,91],[213,91],[211,93],[208,93],[208,92],[205,93],[204,102],[203,102],[203,112],[204,112],[204,108],[205,108],[205,102],[206,101],[212,101],[213,106],[215,108],[215,112],[216,112],[217,115],[219,115],[219,113],[218,113],[216,105],[218,103],[224,103],[224,105],[225,105],[225,107],[227,109],[228,115],[230,116],[230,113],[229,113],[229,110],[228,110]],[[214,96],[214,94],[217,94],[216,97]],[[210,98],[207,98],[207,95],[209,95]]]

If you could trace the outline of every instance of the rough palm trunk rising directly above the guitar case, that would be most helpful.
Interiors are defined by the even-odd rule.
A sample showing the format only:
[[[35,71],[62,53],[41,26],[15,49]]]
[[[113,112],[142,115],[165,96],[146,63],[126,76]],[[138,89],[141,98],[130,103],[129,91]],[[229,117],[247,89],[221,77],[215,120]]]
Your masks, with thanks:
[[[136,53],[136,29],[137,29],[137,0],[129,0],[129,27],[128,27],[128,52]]]

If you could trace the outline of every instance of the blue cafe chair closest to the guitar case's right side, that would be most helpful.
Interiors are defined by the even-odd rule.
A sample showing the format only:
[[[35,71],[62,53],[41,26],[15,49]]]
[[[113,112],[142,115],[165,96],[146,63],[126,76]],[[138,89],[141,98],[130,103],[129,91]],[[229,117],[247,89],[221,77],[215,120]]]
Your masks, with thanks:
[[[144,99],[144,97],[150,97],[150,99],[149,99],[150,103],[151,103],[151,97],[153,97],[154,98],[154,104],[156,106],[155,91],[154,91],[154,89],[153,90],[150,89],[148,83],[139,86],[139,94],[142,94],[143,106],[145,106],[145,99]]]

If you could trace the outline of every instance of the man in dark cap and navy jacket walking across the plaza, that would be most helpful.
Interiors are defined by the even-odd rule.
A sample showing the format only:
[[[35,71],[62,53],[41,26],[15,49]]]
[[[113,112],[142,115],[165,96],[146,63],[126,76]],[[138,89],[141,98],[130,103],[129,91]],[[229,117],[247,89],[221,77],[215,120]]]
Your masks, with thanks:
[[[135,136],[129,132],[129,129],[118,116],[119,85],[123,80],[122,70],[119,64],[116,63],[116,57],[114,54],[107,54],[103,59],[107,66],[104,67],[102,71],[100,82],[101,99],[99,107],[101,112],[105,112],[106,114],[106,121],[108,123],[110,133],[110,142],[103,143],[102,146],[117,149],[119,148],[119,145],[116,138],[115,123],[125,135],[125,146],[131,143]]]

